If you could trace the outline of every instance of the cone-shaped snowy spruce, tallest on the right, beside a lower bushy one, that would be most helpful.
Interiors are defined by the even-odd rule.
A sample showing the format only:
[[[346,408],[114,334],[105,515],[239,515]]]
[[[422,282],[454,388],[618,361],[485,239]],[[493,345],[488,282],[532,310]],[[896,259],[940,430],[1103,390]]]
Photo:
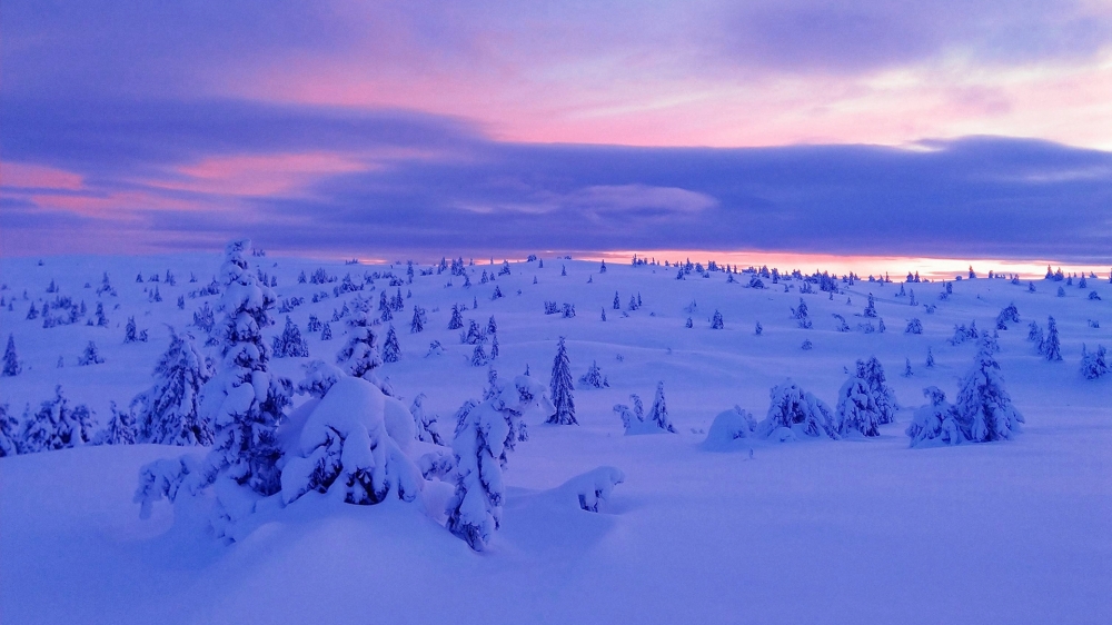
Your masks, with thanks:
[[[962,378],[957,391],[959,423],[967,427],[970,440],[982,443],[1011,438],[1023,423],[1004,389],[1000,365],[993,355],[992,339],[982,337],[973,367]]]

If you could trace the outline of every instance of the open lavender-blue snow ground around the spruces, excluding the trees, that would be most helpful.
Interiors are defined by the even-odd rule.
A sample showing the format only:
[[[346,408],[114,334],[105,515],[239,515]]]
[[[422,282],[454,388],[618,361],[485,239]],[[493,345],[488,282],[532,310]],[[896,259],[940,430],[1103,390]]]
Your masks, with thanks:
[[[577,385],[577,426],[527,419],[530,438],[517,445],[505,472],[502,528],[481,553],[437,515],[395,498],[355,506],[309,493],[230,545],[181,506],[177,522],[165,502],[140,519],[132,503],[140,467],[199,449],[85,446],[0,458],[0,621],[1112,622],[1112,376],[1080,374],[1083,344],[1112,347],[1108,275],[1086,288],[1076,279],[1065,286],[1040,278],[1034,292],[1027,279],[965,279],[952,282],[945,300],[940,282],[903,285],[914,290],[913,307],[895,282],[840,284],[831,299],[821,291],[801,296],[800,280],[765,279],[768,288],[754,289],[744,286],[748,274],[736,282],[723,271],[677,280],[673,267],[609,264],[599,272],[597,262],[556,258],[544,258],[543,268],[510,264],[510,275],[487,284],[481,272],[494,275],[502,262],[469,266],[466,288],[459,276],[421,276],[428,267],[417,266],[411,285],[390,287],[380,278],[374,290],[367,285],[335,297],[339,281],[298,284],[298,275],[324,267],[364,284],[374,271],[404,279],[406,266],[251,260],[277,279],[279,302],[306,298],[289,316],[310,356],[270,361],[295,383],[309,360],[335,361],[346,340],[338,321],[329,341],[306,331],[309,315],[329,321],[356,295],[377,308],[380,291],[400,289],[405,309],[394,325],[401,357],[385,364],[380,377],[407,406],[424,393],[425,409],[439,415],[449,438],[453,414],[481,398],[488,375],[469,364],[473,346],[460,343],[459,330],[447,329],[454,304],[467,307],[465,328],[469,319],[485,327],[495,317],[500,355],[492,365],[502,379],[528,367],[547,385],[557,340],[566,337],[574,377],[597,361],[609,387]],[[127,406],[149,387],[169,326],[203,343],[203,333],[188,326],[195,310],[205,301],[216,307],[219,296],[188,294],[211,281],[219,265],[219,255],[0,260],[7,286],[0,295],[13,300],[0,311],[0,339],[10,333],[23,361],[19,376],[0,378],[0,401],[19,417],[60,384],[71,405],[87,404],[103,421],[109,401]],[[894,278],[900,268],[891,269]],[[167,270],[176,286],[166,284]],[[106,271],[116,296],[96,292]],[[137,282],[140,272],[145,281]],[[153,274],[161,278],[160,302],[150,300]],[[46,292],[51,280],[58,294]],[[505,297],[492,299],[495,288]],[[1100,300],[1089,298],[1093,290]],[[321,291],[329,297],[312,302]],[[615,291],[620,310],[613,307]],[[858,329],[877,325],[861,316],[868,294],[884,333]],[[52,328],[41,317],[26,319],[32,302],[41,308],[56,296],[83,300],[87,316]],[[641,308],[629,310],[638,297]],[[801,297],[811,329],[791,318]],[[107,327],[85,323],[98,301]],[[572,304],[576,316],[545,315],[546,301]],[[952,400],[973,363],[975,341],[950,345],[954,326],[975,320],[991,331],[1011,302],[1021,323],[1000,331],[996,357],[1026,419],[1023,433],[1002,443],[909,448],[904,429],[926,403],[922,389],[937,386]],[[414,305],[428,311],[420,334],[409,333]],[[716,310],[723,329],[711,329]],[[274,312],[268,339],[285,325],[286,315]],[[852,331],[836,331],[832,314]],[[148,341],[125,344],[132,316]],[[1046,361],[1027,341],[1027,324],[1045,330],[1048,316],[1058,321],[1062,361]],[[912,318],[922,321],[921,335],[904,333]],[[810,350],[801,348],[806,339]],[[105,363],[78,366],[90,340]],[[434,340],[444,353],[427,356]],[[925,366],[929,348],[933,368]],[[854,361],[870,356],[885,366],[902,406],[881,436],[761,440],[728,453],[702,445],[715,415],[735,405],[763,418],[770,388],[788,378],[834,406]],[[901,375],[905,359],[910,377]],[[614,405],[637,394],[647,407],[659,381],[677,434],[624,436]],[[295,409],[306,400],[295,396]],[[599,466],[625,476],[609,500],[597,514],[569,504],[560,485]]]

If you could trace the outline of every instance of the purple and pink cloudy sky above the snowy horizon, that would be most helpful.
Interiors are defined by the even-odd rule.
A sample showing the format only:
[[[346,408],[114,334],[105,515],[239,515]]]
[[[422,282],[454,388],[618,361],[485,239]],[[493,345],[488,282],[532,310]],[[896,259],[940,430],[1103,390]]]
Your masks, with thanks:
[[[0,3],[0,254],[1112,262],[1112,0]]]

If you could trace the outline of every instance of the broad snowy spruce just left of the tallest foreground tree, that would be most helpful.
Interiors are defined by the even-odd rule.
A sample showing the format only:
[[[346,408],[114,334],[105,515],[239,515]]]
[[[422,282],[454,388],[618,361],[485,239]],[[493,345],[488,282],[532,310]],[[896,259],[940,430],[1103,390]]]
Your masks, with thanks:
[[[170,346],[155,366],[155,384],[131,400],[139,443],[211,445],[212,424],[201,418],[201,388],[212,377],[192,337],[170,329]]]

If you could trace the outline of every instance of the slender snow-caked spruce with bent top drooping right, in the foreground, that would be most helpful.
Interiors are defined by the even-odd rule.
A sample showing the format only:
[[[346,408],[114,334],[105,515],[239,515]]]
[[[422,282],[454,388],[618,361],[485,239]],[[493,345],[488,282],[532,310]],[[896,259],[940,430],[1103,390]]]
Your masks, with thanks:
[[[553,410],[544,386],[528,376],[517,376],[512,384],[504,383],[495,397],[477,405],[465,403],[456,414],[451,440],[456,493],[448,503],[446,526],[476,552],[490,544],[502,525],[505,502],[502,472],[520,438],[523,418],[530,413],[548,415]]]

